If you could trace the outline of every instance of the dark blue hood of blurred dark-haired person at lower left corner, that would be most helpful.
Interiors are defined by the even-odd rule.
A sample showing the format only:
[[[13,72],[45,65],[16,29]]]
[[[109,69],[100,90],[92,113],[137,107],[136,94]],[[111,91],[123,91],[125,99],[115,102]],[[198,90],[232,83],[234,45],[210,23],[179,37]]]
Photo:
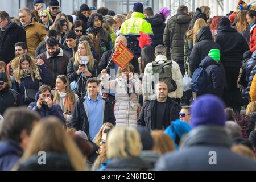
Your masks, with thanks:
[[[23,154],[22,148],[19,147],[18,143],[14,142],[14,140],[6,140],[0,142],[0,158],[1,156],[8,155],[8,154],[17,154],[20,157]]]

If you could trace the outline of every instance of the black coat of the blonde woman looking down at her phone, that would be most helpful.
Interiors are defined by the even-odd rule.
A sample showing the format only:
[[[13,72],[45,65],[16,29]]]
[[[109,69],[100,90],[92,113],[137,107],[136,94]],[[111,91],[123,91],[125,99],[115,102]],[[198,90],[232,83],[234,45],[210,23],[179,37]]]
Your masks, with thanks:
[[[90,73],[92,73],[92,76],[90,76],[91,78],[93,77],[96,77],[96,73],[97,73],[97,61],[96,59],[94,59],[94,67],[93,69],[90,69],[89,67],[88,68],[88,71]],[[85,95],[86,93],[86,81],[87,81],[87,77],[82,77],[79,79],[80,75],[77,75],[76,71],[79,69],[79,65],[74,65],[73,63],[73,58],[69,59],[69,62],[68,62],[68,67],[67,67],[67,76],[69,78],[69,81],[72,82],[72,81],[79,81],[78,82],[78,91],[79,92],[76,92],[77,95],[79,95],[79,97],[82,97]],[[82,89],[83,88],[83,89]],[[82,93],[82,94],[80,94]]]

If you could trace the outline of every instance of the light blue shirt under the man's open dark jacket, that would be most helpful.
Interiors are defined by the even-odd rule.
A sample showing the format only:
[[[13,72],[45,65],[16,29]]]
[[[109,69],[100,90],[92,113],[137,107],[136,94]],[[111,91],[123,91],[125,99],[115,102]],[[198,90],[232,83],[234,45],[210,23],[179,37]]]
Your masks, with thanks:
[[[102,126],[102,98],[100,94],[96,100],[92,100],[88,94],[85,97],[88,108],[89,137],[93,140]]]

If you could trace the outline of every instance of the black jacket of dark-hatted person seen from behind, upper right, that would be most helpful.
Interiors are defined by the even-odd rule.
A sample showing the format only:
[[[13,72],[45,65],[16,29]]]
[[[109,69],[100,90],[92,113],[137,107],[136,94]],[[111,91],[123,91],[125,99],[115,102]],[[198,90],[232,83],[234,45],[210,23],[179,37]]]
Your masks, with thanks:
[[[224,67],[241,67],[243,53],[249,46],[243,36],[230,26],[218,27],[216,43],[221,47],[221,63]]]

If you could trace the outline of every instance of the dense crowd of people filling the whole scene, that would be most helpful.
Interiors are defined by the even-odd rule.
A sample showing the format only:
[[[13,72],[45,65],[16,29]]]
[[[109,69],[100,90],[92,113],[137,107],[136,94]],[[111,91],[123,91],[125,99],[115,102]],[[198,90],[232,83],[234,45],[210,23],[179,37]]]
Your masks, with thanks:
[[[255,171],[255,10],[0,11],[0,170]]]

